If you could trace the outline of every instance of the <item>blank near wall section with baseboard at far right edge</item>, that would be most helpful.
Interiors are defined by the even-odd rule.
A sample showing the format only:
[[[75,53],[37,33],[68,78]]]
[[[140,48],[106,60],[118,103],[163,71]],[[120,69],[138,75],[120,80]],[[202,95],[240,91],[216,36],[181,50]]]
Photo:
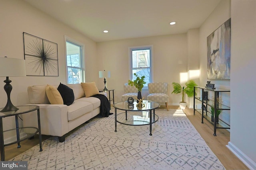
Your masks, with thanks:
[[[231,1],[231,129],[228,147],[256,169],[256,1]]]

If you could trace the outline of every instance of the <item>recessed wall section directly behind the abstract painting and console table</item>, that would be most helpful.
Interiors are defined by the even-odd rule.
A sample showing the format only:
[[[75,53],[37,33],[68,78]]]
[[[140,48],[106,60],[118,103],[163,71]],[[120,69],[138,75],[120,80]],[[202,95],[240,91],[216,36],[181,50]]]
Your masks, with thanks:
[[[229,18],[231,18],[230,0],[222,0],[199,29],[200,86],[205,86],[206,82],[209,81],[207,79],[207,37]],[[232,29],[231,25],[231,30]],[[210,81],[215,84],[217,88],[230,90],[230,80]],[[209,98],[211,98],[212,95],[213,93],[209,92]],[[220,96],[222,97],[223,104],[230,106],[230,93],[221,93]],[[222,111],[220,119],[230,124],[230,111]]]

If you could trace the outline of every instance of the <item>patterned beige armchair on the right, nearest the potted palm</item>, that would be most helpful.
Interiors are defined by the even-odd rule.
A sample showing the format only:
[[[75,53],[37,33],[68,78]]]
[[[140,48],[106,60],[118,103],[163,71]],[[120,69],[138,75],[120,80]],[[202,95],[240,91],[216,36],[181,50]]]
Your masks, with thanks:
[[[156,83],[148,83],[148,100],[158,103],[165,103],[167,111],[168,109],[168,83],[165,82],[156,82]]]

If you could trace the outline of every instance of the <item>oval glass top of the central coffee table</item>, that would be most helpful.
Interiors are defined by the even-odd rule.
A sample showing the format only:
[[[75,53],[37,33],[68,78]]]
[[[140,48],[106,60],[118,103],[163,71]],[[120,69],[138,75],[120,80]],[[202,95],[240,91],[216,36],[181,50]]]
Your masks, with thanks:
[[[127,101],[124,102],[118,102],[114,104],[114,107],[116,109],[120,110],[126,110],[126,111],[147,111],[147,110],[152,110],[160,107],[160,104],[157,102],[152,102],[149,100],[143,100],[143,104],[140,106],[136,106],[137,102],[134,100],[134,103],[132,105],[128,105]]]

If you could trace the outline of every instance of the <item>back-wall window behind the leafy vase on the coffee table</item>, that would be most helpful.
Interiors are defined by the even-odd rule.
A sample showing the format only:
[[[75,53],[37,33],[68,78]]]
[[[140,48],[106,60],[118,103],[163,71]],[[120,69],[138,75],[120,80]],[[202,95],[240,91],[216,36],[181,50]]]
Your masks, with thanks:
[[[130,80],[135,80],[136,76],[145,76],[146,84],[152,82],[152,46],[130,48]]]

